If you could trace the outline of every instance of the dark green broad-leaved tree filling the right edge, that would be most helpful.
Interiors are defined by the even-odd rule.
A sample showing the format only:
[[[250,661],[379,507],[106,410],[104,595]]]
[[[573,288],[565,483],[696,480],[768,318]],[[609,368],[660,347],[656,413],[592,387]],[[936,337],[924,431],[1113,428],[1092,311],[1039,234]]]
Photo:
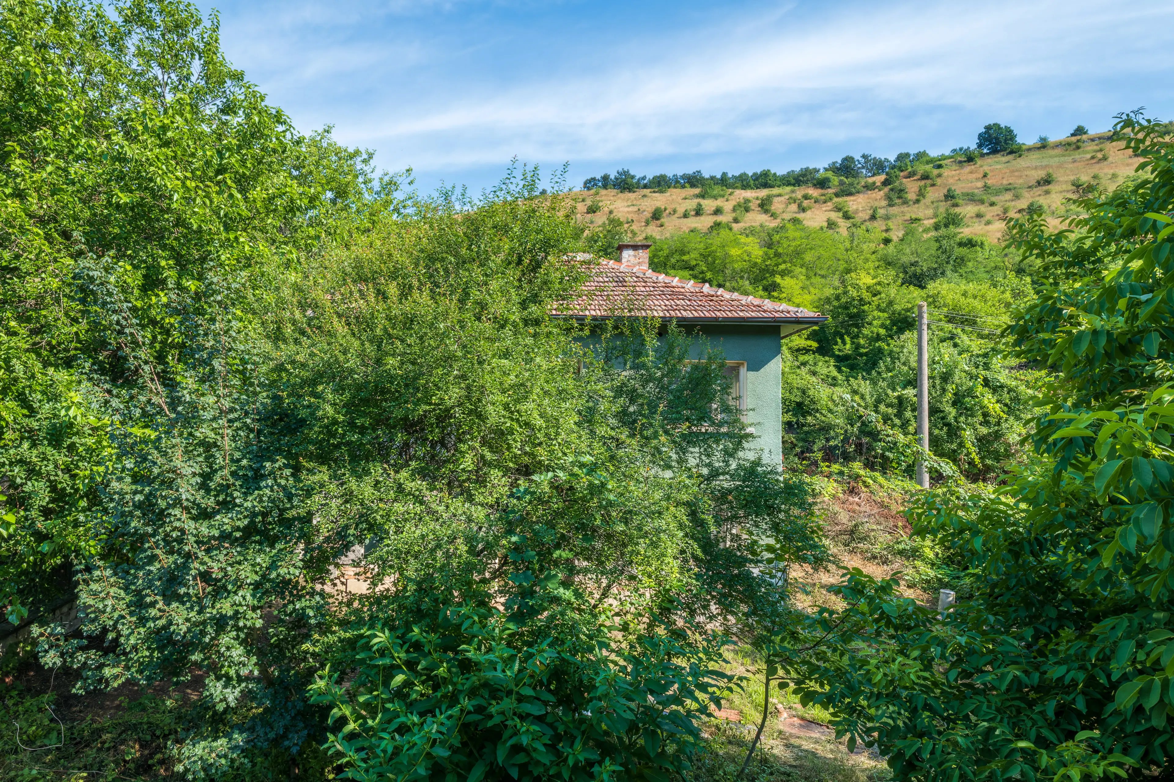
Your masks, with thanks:
[[[1147,176],[1079,202],[1051,231],[1017,220],[1041,285],[1011,327],[1051,372],[1032,453],[994,491],[944,487],[918,533],[965,557],[944,621],[852,573],[857,626],[810,659],[805,698],[842,715],[902,778],[1101,778],[1169,766],[1168,379],[1170,150],[1154,123],[1115,130]],[[812,627],[815,630],[815,627]]]

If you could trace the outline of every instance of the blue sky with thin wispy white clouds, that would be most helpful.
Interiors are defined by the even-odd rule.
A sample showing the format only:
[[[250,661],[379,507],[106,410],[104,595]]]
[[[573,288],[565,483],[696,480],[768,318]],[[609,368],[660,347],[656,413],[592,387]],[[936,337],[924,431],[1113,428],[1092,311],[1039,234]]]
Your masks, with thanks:
[[[310,131],[491,186],[510,158],[568,181],[776,171],[1174,116],[1174,5],[209,2],[229,59]]]

